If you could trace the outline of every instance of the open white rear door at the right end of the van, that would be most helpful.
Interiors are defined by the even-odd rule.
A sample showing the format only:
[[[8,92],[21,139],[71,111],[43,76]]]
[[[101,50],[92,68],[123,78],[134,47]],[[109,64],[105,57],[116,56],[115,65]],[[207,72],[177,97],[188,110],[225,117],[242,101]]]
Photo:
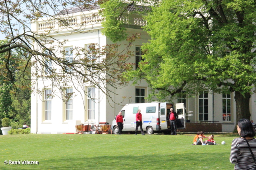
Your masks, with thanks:
[[[179,118],[177,121],[177,129],[185,129],[186,128],[186,119],[185,119],[185,106],[184,103],[177,103],[175,104],[176,113],[178,114]]]

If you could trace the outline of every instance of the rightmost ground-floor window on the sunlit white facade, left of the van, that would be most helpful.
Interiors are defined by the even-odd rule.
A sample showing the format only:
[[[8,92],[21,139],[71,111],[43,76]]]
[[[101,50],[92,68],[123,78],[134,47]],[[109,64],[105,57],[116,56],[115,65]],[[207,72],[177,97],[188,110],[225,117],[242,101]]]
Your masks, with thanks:
[[[95,88],[94,87],[88,87],[88,119],[95,119]]]

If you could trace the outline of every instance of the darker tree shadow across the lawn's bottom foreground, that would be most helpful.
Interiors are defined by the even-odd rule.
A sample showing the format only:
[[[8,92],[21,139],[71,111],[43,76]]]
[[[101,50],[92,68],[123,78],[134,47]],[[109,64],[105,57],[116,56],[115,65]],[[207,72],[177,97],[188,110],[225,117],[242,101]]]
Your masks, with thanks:
[[[197,148],[198,149],[198,148]],[[113,153],[114,154],[114,153]],[[229,156],[228,156],[229,157]],[[210,154],[190,153],[190,154],[138,154],[124,156],[110,156],[97,154],[82,154],[75,158],[63,155],[60,158],[50,158],[48,160],[39,161],[39,165],[5,165],[2,170],[9,169],[42,169],[42,170],[190,170],[203,168],[206,170],[218,169],[227,170],[234,166],[227,163],[227,156],[222,153]],[[2,164],[2,162],[1,162]]]

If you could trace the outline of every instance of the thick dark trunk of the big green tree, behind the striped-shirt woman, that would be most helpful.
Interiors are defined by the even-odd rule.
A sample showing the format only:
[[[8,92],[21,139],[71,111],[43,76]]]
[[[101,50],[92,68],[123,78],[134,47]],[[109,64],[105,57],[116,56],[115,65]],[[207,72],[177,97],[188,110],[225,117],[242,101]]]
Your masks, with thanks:
[[[240,119],[248,119],[250,120],[250,93],[246,93],[244,96],[240,92],[235,92],[235,100],[236,100],[236,126],[234,128],[234,132],[237,132],[237,121]]]

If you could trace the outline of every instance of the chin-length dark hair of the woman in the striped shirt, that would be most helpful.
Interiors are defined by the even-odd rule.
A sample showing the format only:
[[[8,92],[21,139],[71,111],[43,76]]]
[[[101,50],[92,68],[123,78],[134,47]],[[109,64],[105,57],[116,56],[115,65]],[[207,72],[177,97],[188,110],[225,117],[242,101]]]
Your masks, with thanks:
[[[241,137],[254,137],[255,132],[252,127],[252,122],[250,122],[248,119],[240,119],[237,122],[238,127],[241,129],[240,136]]]

